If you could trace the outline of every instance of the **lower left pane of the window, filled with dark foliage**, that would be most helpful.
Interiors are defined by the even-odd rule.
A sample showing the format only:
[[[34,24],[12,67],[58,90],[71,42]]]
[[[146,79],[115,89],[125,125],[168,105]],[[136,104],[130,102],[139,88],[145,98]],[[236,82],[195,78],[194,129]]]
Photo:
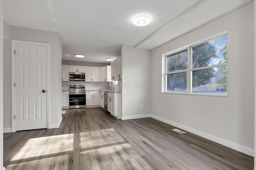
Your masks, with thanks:
[[[187,73],[180,72],[167,74],[168,92],[186,92],[187,91]]]

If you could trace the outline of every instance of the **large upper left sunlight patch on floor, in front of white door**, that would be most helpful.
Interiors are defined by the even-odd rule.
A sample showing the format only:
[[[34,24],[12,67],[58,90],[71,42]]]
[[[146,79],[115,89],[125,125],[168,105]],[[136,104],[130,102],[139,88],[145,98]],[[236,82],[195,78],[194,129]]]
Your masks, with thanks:
[[[40,147],[40,149],[38,149]],[[74,134],[56,135],[28,139],[20,150],[12,157],[13,160],[32,158],[59,152],[73,151]]]

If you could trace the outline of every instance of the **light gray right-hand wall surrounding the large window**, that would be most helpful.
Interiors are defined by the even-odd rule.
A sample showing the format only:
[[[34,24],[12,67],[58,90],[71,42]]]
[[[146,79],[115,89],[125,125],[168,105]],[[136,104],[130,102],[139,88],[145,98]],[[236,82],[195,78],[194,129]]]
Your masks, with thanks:
[[[228,97],[161,93],[162,54],[226,30]],[[253,2],[152,50],[151,63],[156,118],[254,155]]]

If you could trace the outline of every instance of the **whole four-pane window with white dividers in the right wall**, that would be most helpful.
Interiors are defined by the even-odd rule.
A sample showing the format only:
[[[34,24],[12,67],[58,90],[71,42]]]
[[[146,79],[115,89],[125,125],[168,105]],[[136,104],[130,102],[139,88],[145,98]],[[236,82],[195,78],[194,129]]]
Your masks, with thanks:
[[[227,35],[168,54],[165,61],[166,92],[227,94]]]

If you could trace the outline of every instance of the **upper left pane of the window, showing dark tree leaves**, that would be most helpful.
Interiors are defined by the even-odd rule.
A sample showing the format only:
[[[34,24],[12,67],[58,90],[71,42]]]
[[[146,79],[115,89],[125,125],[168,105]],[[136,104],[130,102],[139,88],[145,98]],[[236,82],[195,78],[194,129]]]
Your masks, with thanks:
[[[188,49],[167,56],[167,72],[188,68]]]

